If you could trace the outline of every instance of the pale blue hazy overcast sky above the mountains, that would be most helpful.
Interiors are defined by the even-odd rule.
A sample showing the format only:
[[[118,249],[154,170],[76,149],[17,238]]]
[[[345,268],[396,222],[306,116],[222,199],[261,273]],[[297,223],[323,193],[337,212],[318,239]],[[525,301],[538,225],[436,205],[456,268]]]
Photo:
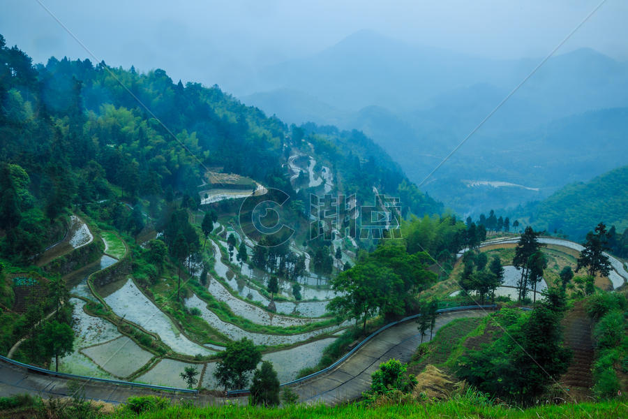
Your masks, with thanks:
[[[491,58],[547,54],[599,0],[41,0],[112,66],[164,68],[175,81],[246,77],[306,57],[360,29]],[[0,34],[36,62],[85,52],[36,0],[0,0]],[[608,0],[560,50],[628,60],[628,2]],[[91,58],[91,57],[90,57]],[[225,86],[229,89],[228,86]],[[236,92],[241,93],[241,92]]]

